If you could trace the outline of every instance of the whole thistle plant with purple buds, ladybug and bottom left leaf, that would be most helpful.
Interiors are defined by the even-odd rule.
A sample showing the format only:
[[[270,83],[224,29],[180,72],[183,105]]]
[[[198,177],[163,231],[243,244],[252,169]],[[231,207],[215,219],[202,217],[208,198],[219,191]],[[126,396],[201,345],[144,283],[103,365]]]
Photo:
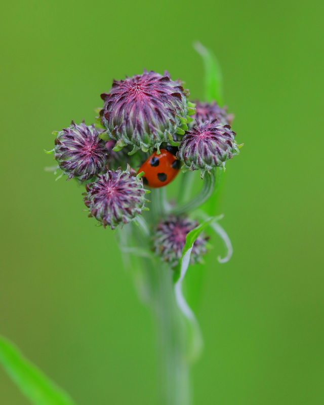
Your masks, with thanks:
[[[168,71],[144,70],[113,80],[101,94],[96,124],[72,121],[54,132],[54,148],[48,152],[57,162],[55,173],[83,187],[88,216],[107,232],[115,230],[125,266],[152,309],[164,405],[192,403],[189,370],[203,347],[183,293],[188,266],[204,262],[211,231],[228,250],[219,262],[232,254],[216,203],[225,164],[240,145],[231,129],[233,115],[222,106],[217,60],[202,45],[196,49],[206,67],[206,100],[190,101],[181,80],[173,80]],[[176,176],[182,176],[179,196],[169,200],[166,188]],[[193,195],[198,182],[203,185]],[[4,339],[0,360],[33,403],[73,404]]]

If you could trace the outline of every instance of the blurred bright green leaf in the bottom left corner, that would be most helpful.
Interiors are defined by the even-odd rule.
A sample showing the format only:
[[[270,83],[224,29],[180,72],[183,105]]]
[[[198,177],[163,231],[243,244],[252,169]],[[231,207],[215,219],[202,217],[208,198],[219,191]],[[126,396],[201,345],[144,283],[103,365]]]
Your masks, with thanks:
[[[0,362],[34,405],[75,405],[72,399],[27,360],[19,349],[0,336]]]

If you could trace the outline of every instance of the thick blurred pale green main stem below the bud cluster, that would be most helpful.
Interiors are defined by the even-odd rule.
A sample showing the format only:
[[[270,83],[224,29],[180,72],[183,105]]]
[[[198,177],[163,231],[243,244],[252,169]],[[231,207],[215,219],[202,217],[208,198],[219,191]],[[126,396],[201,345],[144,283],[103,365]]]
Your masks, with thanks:
[[[168,206],[168,201],[159,189],[153,189],[150,196],[151,210],[147,213],[146,218],[148,229],[154,232],[159,217],[163,215],[165,207]],[[139,254],[143,249],[150,252],[150,236],[143,237],[141,227],[135,223],[132,224],[132,236],[128,243],[131,243],[131,246],[124,246],[124,251],[125,248],[128,248],[126,251],[130,252],[129,248],[137,246]],[[174,271],[154,256],[149,258],[142,255],[138,259],[137,263],[140,264],[140,267],[130,270],[136,285],[139,285],[138,280],[140,279],[141,288],[138,291],[141,292],[141,297],[147,297],[145,302],[150,305],[156,321],[160,352],[160,403],[161,405],[190,405],[189,359],[187,356],[189,331],[186,319],[176,302]]]

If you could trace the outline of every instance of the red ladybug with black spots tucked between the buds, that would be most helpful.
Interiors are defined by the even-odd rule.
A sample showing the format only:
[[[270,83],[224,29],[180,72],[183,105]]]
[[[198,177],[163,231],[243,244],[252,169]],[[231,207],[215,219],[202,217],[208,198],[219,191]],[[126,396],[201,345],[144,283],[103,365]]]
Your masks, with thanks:
[[[163,187],[177,176],[181,168],[181,160],[176,156],[177,151],[178,148],[168,145],[160,149],[160,154],[154,152],[145,160],[138,173],[145,173],[142,179],[146,186]]]

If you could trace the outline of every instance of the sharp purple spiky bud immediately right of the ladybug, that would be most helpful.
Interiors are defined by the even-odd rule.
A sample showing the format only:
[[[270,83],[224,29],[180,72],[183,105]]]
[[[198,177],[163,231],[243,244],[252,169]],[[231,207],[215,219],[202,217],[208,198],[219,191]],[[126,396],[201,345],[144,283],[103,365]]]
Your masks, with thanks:
[[[201,176],[216,166],[224,166],[225,161],[238,153],[234,142],[235,132],[230,125],[221,125],[217,119],[193,127],[186,132],[177,157],[184,161],[189,170],[200,170]]]

